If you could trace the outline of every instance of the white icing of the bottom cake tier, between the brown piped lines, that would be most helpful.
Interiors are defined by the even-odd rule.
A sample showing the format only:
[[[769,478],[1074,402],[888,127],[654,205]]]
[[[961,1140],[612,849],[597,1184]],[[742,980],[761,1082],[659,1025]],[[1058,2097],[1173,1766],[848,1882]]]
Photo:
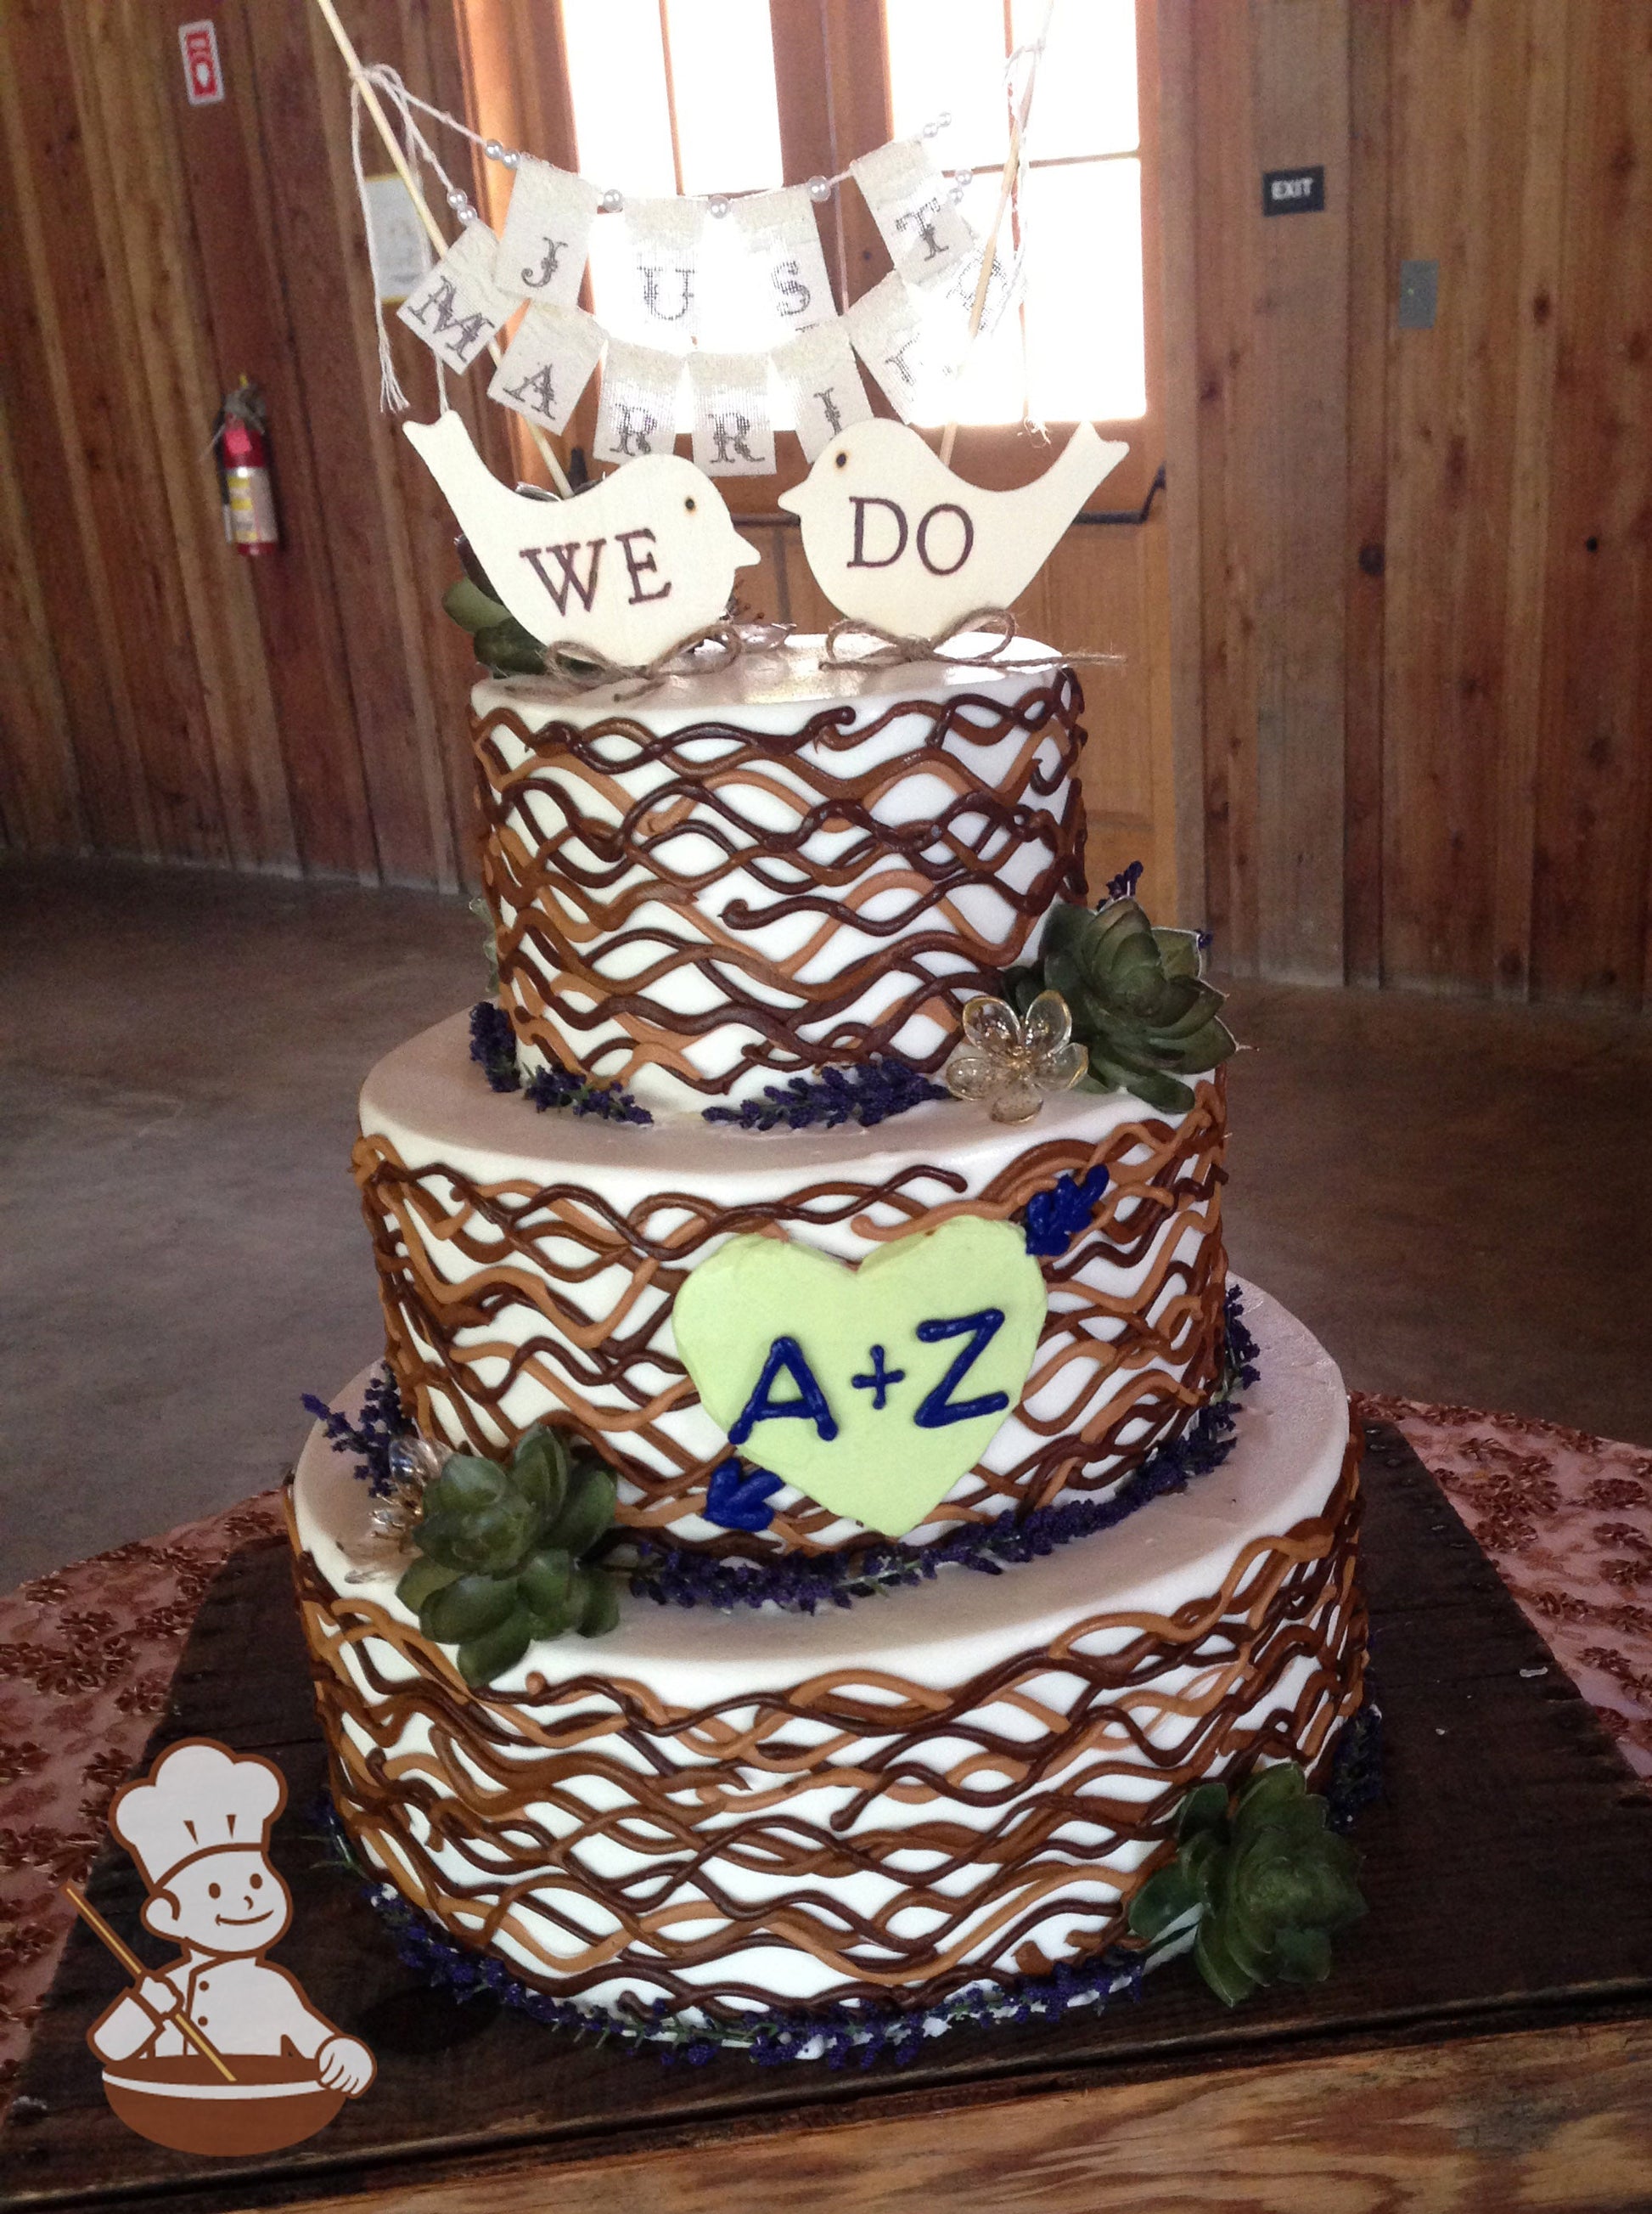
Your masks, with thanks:
[[[1078,1625],[1096,1616],[1167,1616],[1191,1601],[1209,1601],[1225,1585],[1247,1545],[1282,1537],[1298,1523],[1320,1517],[1335,1492],[1349,1435],[1346,1393],[1335,1364],[1300,1322],[1253,1289],[1247,1289],[1247,1322],[1260,1346],[1262,1375],[1245,1399],[1233,1452],[1218,1470],[1198,1477],[1185,1492],[1154,1499],[1116,1530],[1072,1543],[997,1579],[950,1570],[930,1585],[864,1601],[850,1612],[826,1610],[817,1616],[797,1616],[766,1607],[722,1616],[700,1607],[662,1610],[649,1601],[627,1599],[620,1627],[611,1636],[596,1643],[562,1638],[534,1645],[525,1660],[500,1678],[500,1687],[520,1689],[529,1674],[538,1674],[547,1685],[547,1698],[531,1709],[540,1727],[556,1725],[567,1742],[569,1718],[589,1718],[591,1736],[587,1742],[600,1745],[602,1758],[613,1767],[631,1767],[642,1776],[649,1771],[649,1749],[622,1734],[618,1727],[620,1709],[607,1696],[602,1680],[578,1694],[578,1700],[569,1694],[567,1705],[558,1703],[556,1685],[600,1676],[653,1694],[678,1711],[748,1700],[748,1707],[735,1707],[724,1716],[729,1722],[740,1722],[742,1714],[757,1711],[764,1694],[815,1680],[846,1685],[868,1705],[888,1698],[890,1694],[879,1691],[879,1685],[857,1683],[861,1669],[946,1691],[1001,1663],[1052,1652],[1061,1641],[1072,1641],[1076,1652],[1121,1652],[1132,1638],[1127,1623],[1098,1623],[1090,1632]],[[363,1382],[365,1377],[357,1379],[352,1393],[345,1395],[345,1406],[359,1401]],[[363,1550],[370,1550],[368,1492],[352,1475],[352,1463],[326,1444],[319,1428],[312,1430],[299,1459],[292,1506],[297,1541],[312,1556],[323,1583],[334,1592],[370,1599],[396,1621],[412,1623],[412,1614],[394,1599],[394,1565],[352,1576],[354,1561],[363,1556]],[[1247,1572],[1236,1612],[1242,1607],[1251,1581],[1260,1583],[1264,1574],[1267,1561],[1262,1559],[1256,1570]],[[1351,1634],[1351,1623],[1346,1616],[1333,1621],[1333,1599],[1320,1599],[1309,1627],[1340,1647]],[[317,1634],[314,1627],[312,1634]],[[381,1680],[401,1674],[394,1649],[385,1641],[368,1636],[359,1645],[337,1649],[337,1658],[350,1672],[368,1707],[383,1714],[385,1696],[372,1687],[372,1674],[376,1672]],[[1167,1758],[1174,1758],[1189,1725],[1185,1716],[1169,1711],[1167,1703],[1180,1691],[1196,1694],[1214,1685],[1218,1667],[1218,1660],[1202,1667],[1167,1667],[1149,1683],[1101,1694],[1105,1700],[1101,1714],[1105,1716],[1109,1707],[1118,1709],[1118,1727],[1098,1727],[1098,1718],[1092,1714],[1072,1760],[1061,1767],[1056,1778],[1047,1778],[1039,1787],[1054,1784],[1063,1793],[1083,1791],[1085,1800],[1094,1804],[1094,1820],[1067,1820],[1039,1860],[1030,1864],[1030,1882],[1043,1884],[1052,1862],[1061,1862],[1063,1844],[1074,1853],[1087,1849],[1094,1855],[1076,1862],[1070,1880],[1050,1886],[1043,1895],[1032,1893],[1039,1897],[1041,1915],[1032,1935],[1045,1957],[1063,1957],[1070,1942],[1083,1942],[1105,1920],[1121,1886],[1149,1851],[1143,1840],[1116,1833],[1116,1824],[1107,1818],[1109,1807],[1145,1804],[1163,1791],[1163,1776],[1156,1776],[1125,1720],[1160,1747]],[[1307,1660],[1291,1663],[1280,1680],[1258,1683],[1249,1720],[1264,1725],[1273,1716],[1293,1716],[1307,1669]],[[992,1729],[1014,1742],[1032,1745],[1043,1731],[1032,1700],[1036,1698],[1036,1705],[1052,1716],[1063,1716],[1072,1709],[1078,1680],[1052,1652],[1047,1669],[1023,1676],[1016,1689],[1021,1694],[1016,1705],[985,1694],[981,1707],[963,1718],[966,1727]],[[1326,1722],[1326,1700],[1329,1691],[1300,1718],[1302,1734],[1313,1736],[1315,1742]],[[494,1707],[492,1716],[494,1731],[509,1740],[509,1711]],[[808,1745],[819,1745],[824,1736],[819,1722],[802,1718],[786,1725],[784,1742],[771,1736],[762,1767],[753,1765],[748,1771],[751,1793],[762,1798],[773,1791],[786,1749],[802,1751]],[[669,1745],[669,1756],[684,1773],[704,1758],[682,1738],[669,1734],[651,1742],[655,1758],[660,1745]],[[857,1738],[853,1734],[839,1736],[833,1765],[799,1776],[788,1798],[797,1820],[824,1829],[833,1813],[850,1809],[855,1791],[833,1782],[833,1773],[837,1769],[853,1771],[857,1760],[870,1756],[879,1742],[886,1738],[881,1740],[870,1722]],[[970,1753],[979,1753],[974,1740],[941,1734],[919,1740],[919,1749],[937,1776]],[[425,1725],[407,1722],[390,1745],[392,1771],[401,1756],[425,1751],[430,1751]],[[469,1773],[476,1778],[476,1771]],[[1207,1773],[1222,1776],[1222,1762],[1218,1760]],[[481,1782],[481,1778],[476,1780]],[[864,1782],[864,1773],[859,1780]],[[961,1831],[990,1831],[1003,1813],[990,1800],[999,1782],[1001,1776],[992,1767],[981,1769],[970,1789],[959,1791],[954,1784],[943,1802],[946,1818]],[[616,1793],[611,1782],[580,1776],[574,1769],[558,1778],[558,1804],[534,1807],[534,1820],[554,1835],[574,1840],[567,1846],[569,1866],[560,1873],[547,1869],[543,1886],[529,1884],[494,1937],[494,1948],[507,1962],[531,1968],[540,1977],[547,1973],[547,1953],[551,1962],[556,1957],[571,1959],[585,1944],[585,1935],[558,1931],[554,1915],[538,1913],[536,1902],[567,1915],[580,1933],[607,1931],[613,1926],[611,1915],[589,1891],[580,1889],[578,1871],[585,1869],[591,1880],[611,1882],[640,1866],[638,1855],[611,1831],[587,1827],[587,1815],[624,1804],[624,1796]],[[1028,1798],[1032,1796],[1028,1793]],[[935,1807],[915,1804],[910,1791],[895,1798],[873,1789],[853,1813],[844,1835],[853,1840],[861,1831],[888,1833],[904,1824],[921,1824],[932,1815]],[[427,1844],[430,1829],[423,1815],[405,1807],[405,1818],[412,1833]],[[700,1835],[713,1840],[706,1882],[737,1902],[779,1897],[779,1889],[760,1869],[724,1860],[715,1851],[715,1835],[740,1818],[742,1807],[735,1802],[698,1820]],[[582,1835],[576,1838],[576,1831]],[[394,1877],[399,1873],[394,1833],[379,1831],[376,1835],[388,1873]],[[454,1882],[476,1884],[474,1860],[463,1860],[456,1846],[436,1846],[434,1860]],[[910,1855],[901,1855],[901,1866],[895,1873],[908,1875],[919,1886],[930,1860],[930,1849],[915,1849]],[[963,1862],[946,1882],[930,1889],[968,1900],[985,1873],[981,1866]],[[810,1891],[826,1906],[835,1902],[839,1908],[859,1913],[875,1913],[899,1897],[888,1862],[884,1873],[815,1877]],[[713,1900],[698,1889],[693,1875],[684,1877],[675,1891],[655,1895],[651,1906],[682,1911],[684,1922],[673,1922],[678,1937],[686,1933],[689,1924],[704,1924],[706,1935],[713,1935],[720,1922]],[[463,1913],[472,1913],[472,1908]],[[454,1911],[454,1920],[463,1920],[461,1911]],[[474,1911],[472,1926],[478,1922],[481,1908]],[[921,1926],[923,1913],[917,1902],[912,1908],[899,1908],[897,1928],[919,1931]],[[983,1913],[979,1926],[977,1917],[966,1917],[961,1937],[954,1933],[952,1942],[961,1942],[963,1959],[983,1973],[1014,1968],[1014,1962],[1003,1962],[997,1955],[992,1915]],[[861,1959],[859,1966],[866,1962]],[[762,1931],[755,1931],[742,1951],[722,1955],[704,1970],[686,1968],[680,1973],[709,1988],[748,1984],[777,2001],[822,1999],[830,1997],[835,1988],[844,1988],[835,1970],[815,1953],[777,1944]],[[633,1944],[616,1962],[613,1979],[582,1990],[580,1999],[582,2004],[611,2006],[629,1995],[647,2004],[660,1988],[658,1979],[649,1975],[647,1948]]]

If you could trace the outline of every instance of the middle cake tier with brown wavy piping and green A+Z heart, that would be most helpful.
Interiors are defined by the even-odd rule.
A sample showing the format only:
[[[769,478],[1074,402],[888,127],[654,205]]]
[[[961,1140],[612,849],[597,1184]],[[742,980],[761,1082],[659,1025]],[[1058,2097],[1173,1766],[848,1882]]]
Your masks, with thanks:
[[[1194,1089],[1180,1116],[1070,1092],[1012,1129],[957,1100],[638,1129],[489,1092],[454,1016],[361,1094],[403,1406],[489,1455],[571,1426],[622,1525],[713,1554],[1105,1499],[1227,1375],[1225,1092]]]

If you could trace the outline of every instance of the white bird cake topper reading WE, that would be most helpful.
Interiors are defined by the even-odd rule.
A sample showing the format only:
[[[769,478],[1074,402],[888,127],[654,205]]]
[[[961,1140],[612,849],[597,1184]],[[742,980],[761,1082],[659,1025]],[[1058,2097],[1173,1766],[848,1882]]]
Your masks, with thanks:
[[[627,461],[574,500],[543,500],[500,485],[452,410],[403,430],[494,596],[540,644],[651,662],[715,622],[735,569],[762,560],[711,478],[675,454]]]

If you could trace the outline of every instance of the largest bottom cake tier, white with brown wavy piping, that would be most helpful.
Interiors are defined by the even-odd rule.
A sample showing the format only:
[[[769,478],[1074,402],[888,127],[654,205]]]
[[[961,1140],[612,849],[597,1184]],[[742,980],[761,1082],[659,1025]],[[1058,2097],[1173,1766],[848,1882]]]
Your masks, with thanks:
[[[487,1691],[363,1565],[368,1488],[317,1430],[292,1537],[354,1851],[516,1984],[711,2035],[1098,1964],[1185,1796],[1322,1782],[1362,1698],[1342,1377],[1267,1295],[1247,1322],[1233,1452],[1116,1530],[813,1616],[627,1599]]]

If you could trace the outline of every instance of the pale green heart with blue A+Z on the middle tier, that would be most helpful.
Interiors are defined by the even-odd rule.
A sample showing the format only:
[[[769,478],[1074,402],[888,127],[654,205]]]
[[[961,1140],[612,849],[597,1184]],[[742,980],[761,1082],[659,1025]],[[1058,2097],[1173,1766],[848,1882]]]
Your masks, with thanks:
[[[678,1293],[673,1333],[746,1461],[901,1537],[1019,1404],[1043,1315],[1023,1231],[954,1215],[859,1269],[782,1238],[731,1238]]]

